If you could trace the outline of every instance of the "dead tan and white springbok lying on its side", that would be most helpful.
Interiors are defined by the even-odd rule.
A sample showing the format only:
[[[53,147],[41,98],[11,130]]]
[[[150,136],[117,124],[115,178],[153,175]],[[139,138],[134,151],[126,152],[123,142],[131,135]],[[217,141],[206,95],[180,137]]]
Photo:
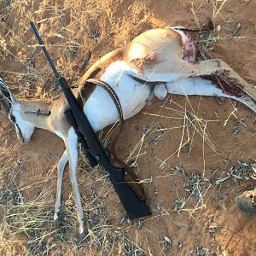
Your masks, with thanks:
[[[96,61],[73,85],[73,93],[84,101],[84,113],[95,131],[119,120],[119,112],[106,90],[90,88],[84,96],[84,81],[100,79],[109,84],[123,110],[124,119],[138,113],[151,96],[161,100],[167,93],[178,95],[222,96],[242,102],[256,112],[256,92],[224,61],[195,61],[195,44],[181,27],[168,27],[143,32],[124,47],[115,49]],[[17,100],[3,82],[0,83],[3,102],[9,119],[15,125],[17,137],[29,142],[34,129],[42,128],[61,137],[66,150],[57,164],[58,181],[54,219],[61,211],[61,180],[69,161],[79,232],[84,231],[84,215],[77,181],[78,137],[67,122],[68,107],[64,96],[53,102]]]

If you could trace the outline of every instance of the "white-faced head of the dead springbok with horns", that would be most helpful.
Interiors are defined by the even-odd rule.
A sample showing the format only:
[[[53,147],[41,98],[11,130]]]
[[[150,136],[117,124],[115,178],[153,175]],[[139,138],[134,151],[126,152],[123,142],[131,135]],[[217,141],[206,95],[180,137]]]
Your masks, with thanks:
[[[22,106],[12,95],[8,86],[0,79],[0,105],[3,113],[8,115],[9,120],[15,125],[17,137],[21,143],[28,143],[32,137],[35,126],[27,122],[22,116]]]

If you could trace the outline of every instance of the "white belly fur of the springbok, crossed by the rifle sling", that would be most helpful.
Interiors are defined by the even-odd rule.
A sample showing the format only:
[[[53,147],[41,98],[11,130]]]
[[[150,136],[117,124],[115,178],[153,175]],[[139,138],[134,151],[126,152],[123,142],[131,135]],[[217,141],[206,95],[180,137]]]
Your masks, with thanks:
[[[113,62],[102,76],[102,80],[112,85],[121,103],[124,119],[138,113],[148,102],[150,87],[137,83],[128,75],[136,75],[124,61]],[[95,131],[119,120],[119,114],[112,98],[106,90],[96,87],[84,105],[84,113]]]

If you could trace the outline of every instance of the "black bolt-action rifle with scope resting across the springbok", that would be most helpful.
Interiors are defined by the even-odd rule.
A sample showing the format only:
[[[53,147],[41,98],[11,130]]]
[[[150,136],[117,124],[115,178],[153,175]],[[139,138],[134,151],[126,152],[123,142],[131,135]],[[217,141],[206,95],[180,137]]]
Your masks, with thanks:
[[[138,198],[131,187],[125,182],[125,169],[115,167],[109,162],[101,143],[96,137],[95,131],[93,131],[89,120],[84,114],[83,109],[80,107],[79,102],[73,95],[72,90],[69,88],[66,79],[62,78],[57,72],[53,62],[50,59],[48,51],[44,46],[44,42],[42,38],[40,38],[38,30],[32,21],[30,21],[30,28],[34,36],[37,38],[38,44],[40,44],[41,48],[43,49],[49,66],[55,74],[55,78],[58,80],[61,90],[66,96],[70,107],[70,110],[68,110],[66,113],[69,115],[69,119],[73,119],[72,122],[76,122],[77,127],[75,129],[77,134],[79,132],[80,139],[82,138],[82,145],[84,146],[86,153],[89,154],[90,160],[93,162],[93,166],[96,166],[96,164],[99,163],[108,171],[109,179],[113,183],[113,188],[119,195],[119,199],[123,204],[125,212],[129,218],[134,219],[151,215],[148,207],[146,207],[144,202]],[[84,144],[85,140],[83,138],[85,138],[86,142],[89,144],[89,147],[87,143]]]

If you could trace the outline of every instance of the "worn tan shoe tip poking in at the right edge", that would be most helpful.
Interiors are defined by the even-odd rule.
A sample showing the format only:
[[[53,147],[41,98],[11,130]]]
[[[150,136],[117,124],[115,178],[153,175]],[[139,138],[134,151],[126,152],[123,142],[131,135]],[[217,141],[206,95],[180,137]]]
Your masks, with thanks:
[[[242,212],[256,215],[256,187],[237,195],[236,205]]]

